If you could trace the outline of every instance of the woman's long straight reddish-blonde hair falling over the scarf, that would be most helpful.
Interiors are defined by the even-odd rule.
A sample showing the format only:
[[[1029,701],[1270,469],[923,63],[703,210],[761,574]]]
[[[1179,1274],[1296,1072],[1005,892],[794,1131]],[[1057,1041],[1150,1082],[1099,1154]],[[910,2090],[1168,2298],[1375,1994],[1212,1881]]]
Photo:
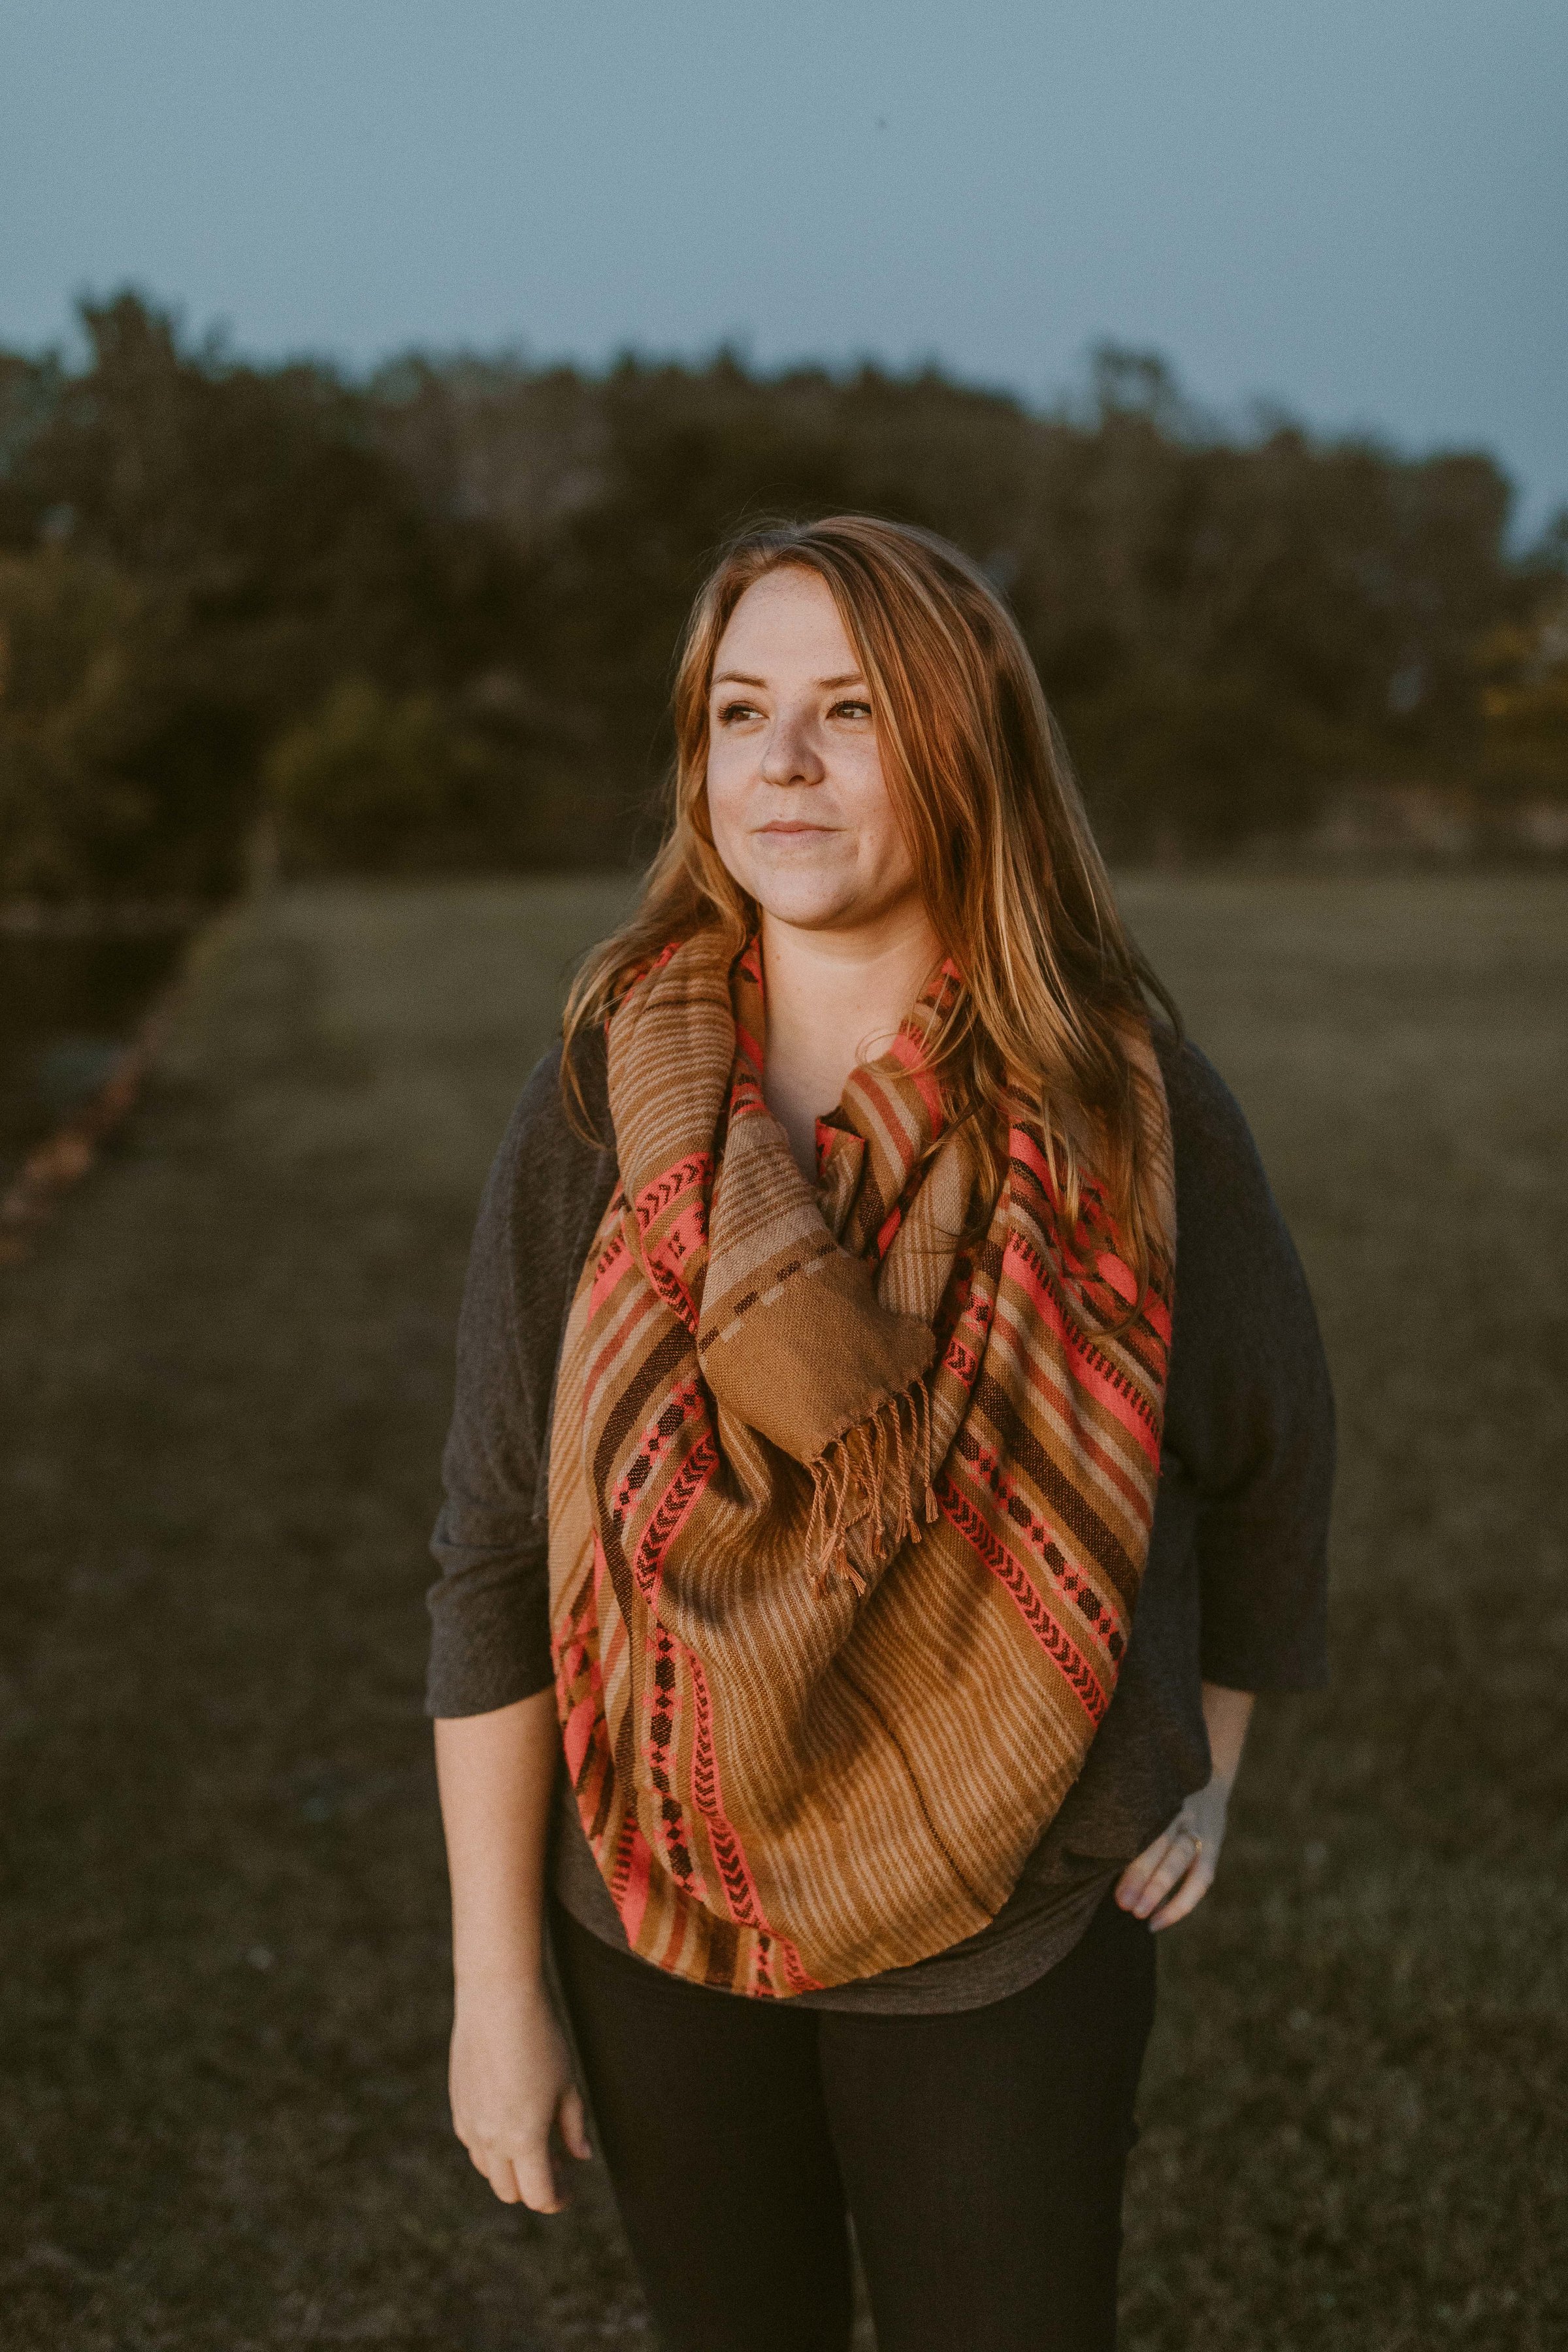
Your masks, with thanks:
[[[825,581],[839,607],[931,927],[964,974],[933,1049],[952,1117],[976,1122],[994,1192],[1006,1096],[1032,1096],[1067,1221],[1093,1171],[1143,1287],[1173,1237],[1152,1207],[1126,1037],[1128,1021],[1145,1018],[1145,993],[1180,1028],[1175,1004],[1121,924],[1013,616],[969,557],[910,524],[769,524],[733,539],[708,574],[675,673],[670,828],[635,913],[595,948],[567,1002],[562,1082],[578,1120],[574,1042],[609,1016],[632,974],[696,931],[719,931],[738,953],[757,929],[755,901],[712,844],[708,696],[736,604],[788,564]]]

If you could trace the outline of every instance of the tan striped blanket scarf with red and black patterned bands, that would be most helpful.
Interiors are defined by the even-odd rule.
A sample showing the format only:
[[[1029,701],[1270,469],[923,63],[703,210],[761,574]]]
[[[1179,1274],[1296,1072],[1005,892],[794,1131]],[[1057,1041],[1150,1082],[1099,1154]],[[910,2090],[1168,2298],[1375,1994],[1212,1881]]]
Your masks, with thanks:
[[[957,985],[851,1073],[816,1185],[762,1098],[755,941],[665,950],[609,1018],[621,1181],[550,1442],[562,1736],[632,1950],[752,1997],[997,1915],[1147,1557],[1168,1268],[1126,1322],[1103,1195],[1063,1230],[1023,1096],[978,1200],[924,1054]],[[1173,1232],[1147,1033],[1131,1054]]]

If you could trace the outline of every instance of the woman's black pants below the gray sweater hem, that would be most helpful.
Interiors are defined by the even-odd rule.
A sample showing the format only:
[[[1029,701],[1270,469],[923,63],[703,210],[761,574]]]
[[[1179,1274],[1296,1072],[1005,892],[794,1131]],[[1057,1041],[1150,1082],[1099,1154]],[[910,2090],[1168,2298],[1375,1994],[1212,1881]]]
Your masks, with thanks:
[[[708,1992],[555,1912],[602,2154],[668,2352],[1110,2352],[1154,1938],[1105,1898],[957,2016]]]

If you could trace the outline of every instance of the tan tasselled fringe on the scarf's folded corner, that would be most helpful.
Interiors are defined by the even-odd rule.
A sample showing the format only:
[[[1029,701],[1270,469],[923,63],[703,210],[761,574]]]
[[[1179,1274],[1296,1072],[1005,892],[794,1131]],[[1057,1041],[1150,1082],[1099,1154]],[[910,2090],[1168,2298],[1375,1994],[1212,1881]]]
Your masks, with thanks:
[[[863,1597],[870,1576],[903,1543],[919,1543],[936,1515],[931,1390],[922,1376],[830,1437],[811,1463],[806,1562],[818,1599],[835,1576]]]

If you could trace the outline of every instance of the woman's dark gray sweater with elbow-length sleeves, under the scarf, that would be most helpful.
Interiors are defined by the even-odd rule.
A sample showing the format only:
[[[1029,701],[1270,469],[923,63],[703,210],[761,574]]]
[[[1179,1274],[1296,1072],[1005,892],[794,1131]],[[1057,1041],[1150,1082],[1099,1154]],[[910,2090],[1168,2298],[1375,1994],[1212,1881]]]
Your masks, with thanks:
[[[1291,1235],[1241,1110],[1192,1044],[1161,1040],[1175,1136],[1175,1343],[1150,1559],[1117,1696],[1006,1907],[912,1969],[802,1994],[811,2009],[976,2009],[1044,1976],[1105,1889],[1208,1778],[1201,1682],[1302,1691],[1326,1679],[1333,1479],[1328,1371]],[[609,1136],[602,1049],[583,1049]],[[480,1207],[447,1501],[433,1552],[428,1708],[484,1715],[550,1684],[548,1503],[555,1364],[588,1242],[616,1183],[574,1134],[559,1049],[534,1070]],[[625,1943],[559,1776],[552,1879]]]

